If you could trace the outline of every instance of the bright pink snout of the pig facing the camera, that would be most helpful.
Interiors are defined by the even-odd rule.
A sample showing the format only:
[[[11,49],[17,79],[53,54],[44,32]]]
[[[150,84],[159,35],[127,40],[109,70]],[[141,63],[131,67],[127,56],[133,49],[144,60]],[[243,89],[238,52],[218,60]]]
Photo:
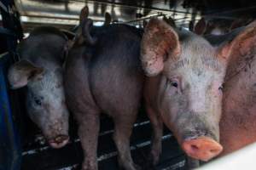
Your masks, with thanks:
[[[209,161],[223,150],[221,144],[209,137],[185,139],[182,147],[188,156],[201,161]]]

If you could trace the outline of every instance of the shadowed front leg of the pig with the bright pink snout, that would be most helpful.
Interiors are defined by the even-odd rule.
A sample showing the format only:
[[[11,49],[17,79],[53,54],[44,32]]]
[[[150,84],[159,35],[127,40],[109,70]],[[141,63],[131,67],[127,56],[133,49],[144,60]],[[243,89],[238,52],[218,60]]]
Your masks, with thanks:
[[[159,162],[162,151],[163,122],[160,116],[150,107],[147,107],[148,117],[153,127],[152,146],[150,151],[150,159],[156,165]],[[150,160],[151,161],[151,160]]]

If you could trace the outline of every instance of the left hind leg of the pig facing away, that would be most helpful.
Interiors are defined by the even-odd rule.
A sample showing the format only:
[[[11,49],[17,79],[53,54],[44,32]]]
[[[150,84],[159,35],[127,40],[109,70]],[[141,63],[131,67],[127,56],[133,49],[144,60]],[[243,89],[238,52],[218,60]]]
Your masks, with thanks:
[[[84,150],[82,170],[96,170],[96,150],[100,129],[100,113],[93,110],[84,110],[79,114],[79,138]]]

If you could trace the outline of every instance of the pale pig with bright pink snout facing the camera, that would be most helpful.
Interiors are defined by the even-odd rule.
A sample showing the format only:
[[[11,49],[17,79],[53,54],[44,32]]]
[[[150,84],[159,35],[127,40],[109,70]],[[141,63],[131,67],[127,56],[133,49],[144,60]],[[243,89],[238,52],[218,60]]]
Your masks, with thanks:
[[[154,164],[159,161],[163,123],[189,157],[209,161],[221,153],[219,122],[226,70],[236,49],[253,43],[250,35],[255,28],[254,23],[212,45],[193,32],[174,30],[160,20],[149,21],[143,34],[141,60],[148,76],[144,98],[154,129]],[[241,53],[246,49],[241,48]],[[198,166],[194,163],[192,166]]]

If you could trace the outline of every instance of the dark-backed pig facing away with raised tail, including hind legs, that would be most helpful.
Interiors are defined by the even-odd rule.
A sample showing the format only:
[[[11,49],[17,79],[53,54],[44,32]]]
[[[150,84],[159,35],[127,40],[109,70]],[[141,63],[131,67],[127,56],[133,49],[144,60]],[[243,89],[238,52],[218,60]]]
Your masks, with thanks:
[[[92,26],[82,9],[80,27],[69,50],[64,73],[67,105],[79,124],[83,170],[96,170],[102,113],[113,118],[119,167],[138,169],[132,161],[130,136],[143,97],[139,59],[142,33],[133,26]],[[85,14],[83,14],[85,13]]]

